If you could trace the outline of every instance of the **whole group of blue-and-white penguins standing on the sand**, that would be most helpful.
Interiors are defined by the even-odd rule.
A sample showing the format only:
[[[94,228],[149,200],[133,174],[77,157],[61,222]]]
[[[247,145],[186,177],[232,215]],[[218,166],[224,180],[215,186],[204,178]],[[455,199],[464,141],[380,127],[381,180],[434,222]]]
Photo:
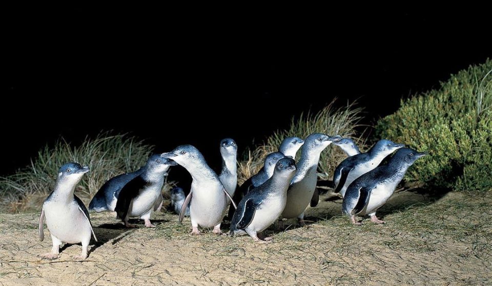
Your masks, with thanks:
[[[222,169],[213,171],[200,151],[192,145],[181,145],[171,152],[151,156],[147,164],[135,172],[120,174],[107,181],[93,197],[89,210],[115,211],[126,227],[130,217],[144,219],[146,227],[154,227],[150,217],[162,207],[161,189],[170,166],[181,165],[192,177],[191,191],[185,197],[181,188],[171,191],[174,210],[179,221],[189,215],[192,234],[198,227],[212,228],[221,234],[220,225],[230,206],[230,235],[250,235],[258,243],[269,243],[262,231],[277,219],[298,218],[304,225],[304,211],[313,201],[317,184],[317,167],[321,152],[334,143],[348,156],[335,170],[335,192],[343,197],[342,213],[354,224],[355,215],[369,215],[376,224],[384,223],[376,216],[403,179],[407,168],[426,155],[403,144],[379,140],[370,150],[361,153],[354,141],[340,136],[311,134],[305,140],[289,137],[283,140],[278,152],[264,159],[261,170],[237,185],[237,145],[232,139],[220,143]],[[295,162],[297,151],[301,156]],[[396,152],[395,152],[396,151]],[[381,164],[383,159],[395,154]],[[59,169],[54,190],[43,204],[39,217],[39,237],[44,238],[43,223],[50,231],[53,242],[51,252],[40,255],[55,259],[63,243],[81,243],[82,252],[75,259],[86,259],[92,229],[89,211],[74,195],[75,186],[89,167],[67,163]],[[317,201],[317,196],[316,197]],[[237,203],[237,205],[236,205]],[[317,202],[316,202],[317,203]]]

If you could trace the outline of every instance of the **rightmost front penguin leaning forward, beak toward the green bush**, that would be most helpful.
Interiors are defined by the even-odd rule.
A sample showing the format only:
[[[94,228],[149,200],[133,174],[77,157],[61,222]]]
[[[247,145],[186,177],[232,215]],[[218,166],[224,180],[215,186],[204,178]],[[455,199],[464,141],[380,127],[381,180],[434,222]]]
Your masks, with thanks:
[[[376,211],[386,203],[403,179],[406,170],[417,159],[427,155],[411,148],[401,148],[388,163],[362,174],[350,186],[343,197],[342,212],[350,216],[353,224],[355,215],[369,215],[375,224],[384,224],[376,216]]]

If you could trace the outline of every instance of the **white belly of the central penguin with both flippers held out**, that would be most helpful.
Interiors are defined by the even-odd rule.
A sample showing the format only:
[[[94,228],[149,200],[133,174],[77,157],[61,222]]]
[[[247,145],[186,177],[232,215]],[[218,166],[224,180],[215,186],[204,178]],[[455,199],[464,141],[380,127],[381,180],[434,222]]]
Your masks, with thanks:
[[[196,184],[198,185],[198,184]],[[190,217],[201,227],[214,227],[226,214],[227,200],[222,184],[200,185],[192,183]]]

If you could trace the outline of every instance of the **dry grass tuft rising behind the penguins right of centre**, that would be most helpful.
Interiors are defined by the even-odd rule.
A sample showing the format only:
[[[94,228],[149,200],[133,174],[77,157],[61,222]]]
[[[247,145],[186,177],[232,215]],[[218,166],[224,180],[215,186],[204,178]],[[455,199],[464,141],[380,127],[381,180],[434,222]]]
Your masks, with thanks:
[[[324,133],[330,136],[340,135],[351,137],[359,148],[365,147],[365,140],[356,136],[356,127],[362,119],[362,109],[355,107],[355,103],[347,104],[341,108],[334,107],[334,101],[321,109],[317,114],[301,114],[299,118],[293,118],[287,130],[277,130],[266,142],[249,150],[245,159],[239,162],[238,182],[241,184],[263,166],[264,158],[271,152],[276,152],[282,140],[286,137],[296,136],[302,139],[312,133]],[[355,137],[355,138],[354,138]],[[297,152],[299,158],[301,151]],[[335,145],[330,145],[321,153],[318,173],[323,180],[332,179],[336,166],[346,158],[345,153]]]

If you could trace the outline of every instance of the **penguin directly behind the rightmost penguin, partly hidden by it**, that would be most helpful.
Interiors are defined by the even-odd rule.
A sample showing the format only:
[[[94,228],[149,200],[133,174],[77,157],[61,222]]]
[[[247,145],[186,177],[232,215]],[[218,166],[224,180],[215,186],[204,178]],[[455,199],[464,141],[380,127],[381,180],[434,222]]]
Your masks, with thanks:
[[[376,168],[384,158],[394,151],[405,147],[390,140],[379,140],[369,151],[359,153],[343,160],[335,169],[333,183],[335,192],[345,195],[346,188],[362,174]]]

